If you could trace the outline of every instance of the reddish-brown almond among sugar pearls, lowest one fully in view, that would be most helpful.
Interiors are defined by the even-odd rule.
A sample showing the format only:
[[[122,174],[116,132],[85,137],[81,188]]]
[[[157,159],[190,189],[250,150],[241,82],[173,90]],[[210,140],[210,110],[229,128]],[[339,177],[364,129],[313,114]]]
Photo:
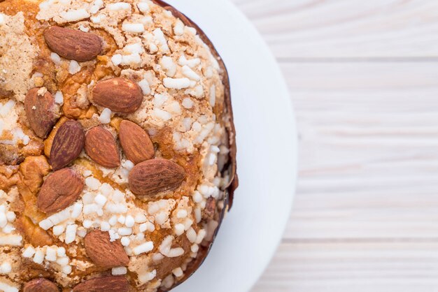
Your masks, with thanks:
[[[84,244],[87,255],[101,268],[115,268],[129,263],[120,241],[111,242],[108,232],[91,231],[85,236]]]

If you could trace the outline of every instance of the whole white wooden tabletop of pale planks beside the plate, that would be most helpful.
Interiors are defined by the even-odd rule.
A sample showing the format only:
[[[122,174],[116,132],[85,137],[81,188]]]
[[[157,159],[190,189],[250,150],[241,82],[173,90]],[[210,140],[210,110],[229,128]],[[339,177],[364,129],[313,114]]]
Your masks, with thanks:
[[[290,223],[252,292],[438,291],[438,1],[233,1],[299,126]]]

